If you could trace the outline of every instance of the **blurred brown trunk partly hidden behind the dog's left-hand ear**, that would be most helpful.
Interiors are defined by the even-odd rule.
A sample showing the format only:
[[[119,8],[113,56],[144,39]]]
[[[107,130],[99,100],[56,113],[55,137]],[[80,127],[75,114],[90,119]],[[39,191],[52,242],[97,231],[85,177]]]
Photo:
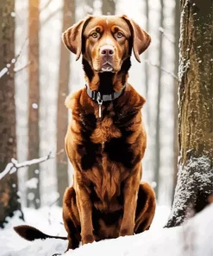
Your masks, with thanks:
[[[75,22],[75,3],[74,0],[64,0],[63,8],[63,27],[62,31],[68,29]],[[65,106],[65,99],[69,92],[70,77],[70,54],[61,41],[60,45],[60,74],[58,91],[58,109],[57,109],[57,151],[65,148],[65,136],[68,125],[68,113]],[[58,192],[60,195],[60,206],[62,206],[63,195],[68,187],[68,162],[66,152],[57,157],[57,179]]]

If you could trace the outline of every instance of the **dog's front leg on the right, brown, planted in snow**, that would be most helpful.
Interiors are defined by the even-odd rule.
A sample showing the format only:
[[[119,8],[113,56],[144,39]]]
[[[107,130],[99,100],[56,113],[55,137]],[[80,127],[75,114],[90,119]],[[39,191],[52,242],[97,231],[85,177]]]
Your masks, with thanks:
[[[135,211],[137,205],[139,185],[140,177],[136,174],[130,176],[128,180],[124,183],[123,217],[119,236],[134,234]]]

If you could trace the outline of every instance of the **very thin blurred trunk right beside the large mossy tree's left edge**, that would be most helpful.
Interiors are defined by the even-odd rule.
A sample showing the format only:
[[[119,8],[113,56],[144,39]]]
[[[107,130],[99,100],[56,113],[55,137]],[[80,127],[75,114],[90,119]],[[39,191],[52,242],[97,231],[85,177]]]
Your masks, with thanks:
[[[178,76],[179,73],[179,18],[180,5],[176,2],[174,8],[174,74]],[[178,157],[179,157],[179,82],[174,80],[173,84],[173,186],[172,186],[172,200],[174,198],[174,191],[177,184],[178,177]]]

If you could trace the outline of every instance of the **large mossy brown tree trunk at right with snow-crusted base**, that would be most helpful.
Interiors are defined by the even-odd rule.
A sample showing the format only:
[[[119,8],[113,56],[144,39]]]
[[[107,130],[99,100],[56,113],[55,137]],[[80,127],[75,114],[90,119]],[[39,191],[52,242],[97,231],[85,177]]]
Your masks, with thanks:
[[[187,208],[202,210],[213,193],[212,0],[182,0],[179,63],[179,176],[166,227]]]

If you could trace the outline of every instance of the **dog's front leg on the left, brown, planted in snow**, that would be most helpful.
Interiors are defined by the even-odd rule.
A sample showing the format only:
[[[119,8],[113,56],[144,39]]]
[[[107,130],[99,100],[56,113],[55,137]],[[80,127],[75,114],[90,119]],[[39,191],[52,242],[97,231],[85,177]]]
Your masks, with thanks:
[[[78,187],[77,203],[81,225],[81,241],[85,245],[92,243],[95,239],[93,235],[91,199],[84,186]]]

